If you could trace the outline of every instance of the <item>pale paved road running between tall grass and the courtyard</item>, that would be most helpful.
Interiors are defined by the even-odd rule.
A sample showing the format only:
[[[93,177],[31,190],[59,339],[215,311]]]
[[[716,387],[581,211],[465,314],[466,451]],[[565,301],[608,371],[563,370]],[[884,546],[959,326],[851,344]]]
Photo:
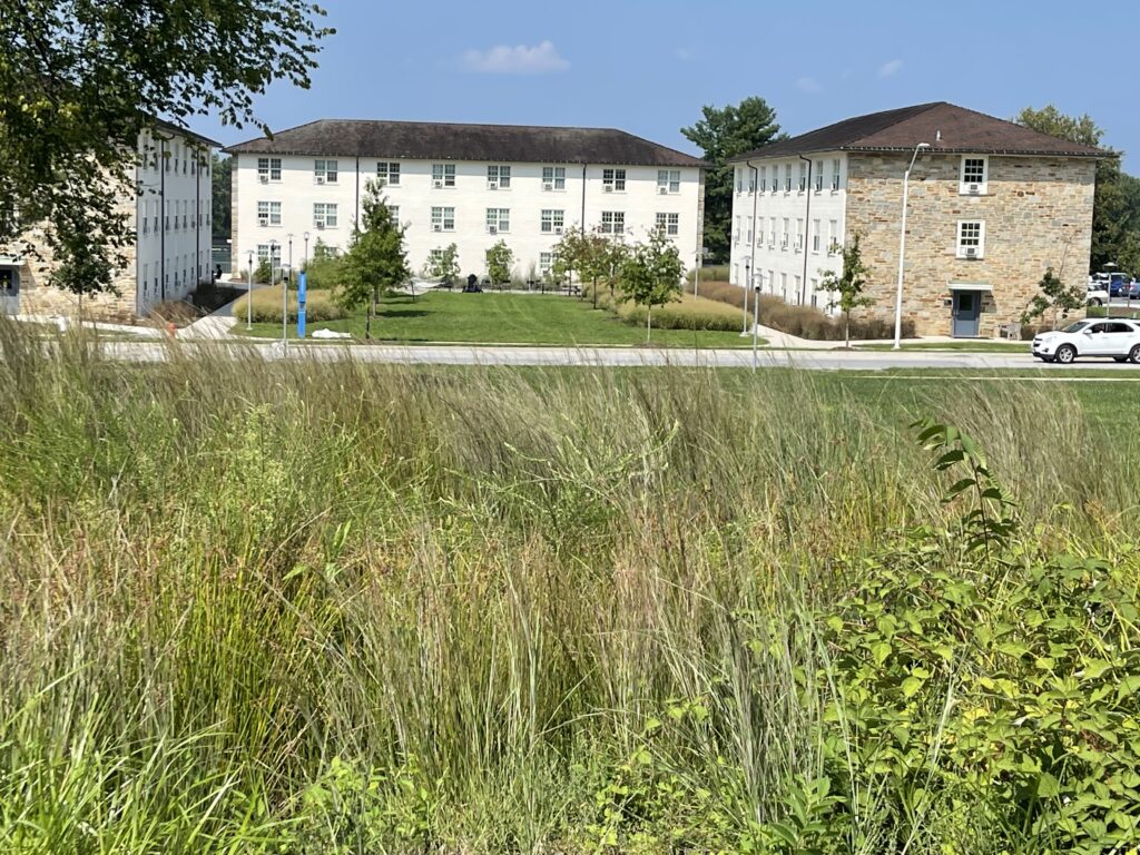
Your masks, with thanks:
[[[186,355],[207,358],[239,358],[256,355],[267,360],[340,361],[352,359],[361,363],[393,363],[407,365],[565,365],[565,366],[707,366],[750,367],[752,353],[748,350],[681,350],[649,348],[531,348],[531,347],[404,347],[392,344],[335,345],[294,344],[287,352],[280,343],[225,344],[178,342],[174,345],[155,342],[108,342],[101,345],[106,356],[127,361],[164,361],[172,355],[172,347]],[[886,368],[966,368],[975,370],[1039,368],[1058,378],[1072,368],[1045,365],[1028,353],[971,353],[964,351],[793,351],[762,350],[759,367],[800,367],[816,370],[882,370]],[[1084,360],[1077,367],[1108,368],[1121,372],[1122,378],[1140,378],[1140,367],[1119,365],[1112,360]]]

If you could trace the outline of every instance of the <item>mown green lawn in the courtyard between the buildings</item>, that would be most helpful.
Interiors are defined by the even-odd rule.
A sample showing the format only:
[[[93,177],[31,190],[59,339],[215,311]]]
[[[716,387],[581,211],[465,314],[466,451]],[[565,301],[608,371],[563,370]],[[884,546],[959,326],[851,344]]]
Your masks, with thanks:
[[[317,329],[348,332],[364,339],[364,312],[344,320],[310,324]],[[234,332],[245,333],[237,324]],[[250,335],[280,337],[279,324],[254,324]],[[577,298],[556,294],[462,294],[432,292],[413,302],[410,296],[385,299],[373,321],[373,340],[423,344],[462,342],[481,344],[636,345],[645,331],[625,324]],[[290,337],[295,337],[291,325]],[[654,329],[654,345],[670,348],[751,347],[738,332]]]

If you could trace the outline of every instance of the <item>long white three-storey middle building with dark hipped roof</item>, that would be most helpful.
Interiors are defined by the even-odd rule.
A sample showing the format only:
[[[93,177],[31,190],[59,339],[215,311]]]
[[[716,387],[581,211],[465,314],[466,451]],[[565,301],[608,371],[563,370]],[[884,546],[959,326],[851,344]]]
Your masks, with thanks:
[[[369,180],[417,272],[454,243],[462,274],[481,277],[504,241],[515,277],[543,277],[579,226],[622,241],[662,229],[686,266],[701,246],[705,164],[619,130],[324,120],[226,150],[235,272],[251,253],[288,264],[291,249],[299,266],[317,239],[347,250]]]

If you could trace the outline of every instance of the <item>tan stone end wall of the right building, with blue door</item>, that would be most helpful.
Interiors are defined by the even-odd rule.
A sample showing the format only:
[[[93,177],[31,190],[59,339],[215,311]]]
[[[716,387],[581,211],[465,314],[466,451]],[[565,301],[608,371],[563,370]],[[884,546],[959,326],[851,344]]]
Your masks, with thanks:
[[[864,311],[894,317],[906,154],[852,154],[847,228],[860,233],[871,270]],[[1092,243],[1096,163],[1077,157],[988,161],[987,194],[959,195],[961,155],[923,154],[911,173],[903,317],[919,335],[950,335],[951,283],[985,284],[979,335],[1020,319],[1052,267],[1067,284],[1085,282]],[[985,221],[984,258],[956,258],[959,220]]]

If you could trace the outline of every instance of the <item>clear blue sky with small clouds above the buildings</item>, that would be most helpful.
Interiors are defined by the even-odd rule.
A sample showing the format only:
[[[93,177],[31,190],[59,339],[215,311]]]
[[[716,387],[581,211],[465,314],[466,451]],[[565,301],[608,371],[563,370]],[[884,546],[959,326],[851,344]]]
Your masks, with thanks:
[[[1140,2],[952,5],[817,0],[482,3],[324,0],[337,34],[308,91],[256,100],[270,128],[316,119],[614,127],[692,152],[679,128],[750,95],[799,133],[948,100],[1001,117],[1056,104],[1089,113],[1140,172],[1132,91]],[[1115,35],[1114,35],[1115,33]],[[1098,42],[1097,39],[1100,39]],[[1105,44],[1098,57],[1096,44]],[[233,144],[253,136],[207,119]]]

